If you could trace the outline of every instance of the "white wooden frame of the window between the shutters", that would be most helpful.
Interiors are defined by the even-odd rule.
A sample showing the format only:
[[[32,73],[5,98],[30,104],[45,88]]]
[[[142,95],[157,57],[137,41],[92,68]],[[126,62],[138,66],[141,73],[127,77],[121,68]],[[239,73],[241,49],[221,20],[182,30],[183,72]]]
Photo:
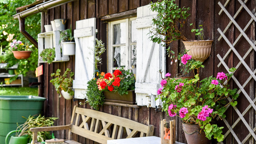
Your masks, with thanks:
[[[108,72],[112,73],[113,70],[120,69],[121,67],[114,67],[114,47],[125,46],[125,70],[132,69],[132,45],[136,44],[131,42],[132,35],[132,20],[137,17],[127,18],[123,20],[111,21],[108,23]],[[113,44],[114,25],[118,23],[126,23],[126,43]]]

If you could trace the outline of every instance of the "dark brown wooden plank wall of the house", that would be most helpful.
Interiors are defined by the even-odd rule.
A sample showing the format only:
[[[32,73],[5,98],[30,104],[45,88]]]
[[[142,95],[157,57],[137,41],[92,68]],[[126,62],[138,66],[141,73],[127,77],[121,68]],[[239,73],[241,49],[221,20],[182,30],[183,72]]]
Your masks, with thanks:
[[[153,2],[155,2],[154,0]],[[219,15],[220,6],[217,4],[218,2],[221,2],[224,4],[226,0],[176,0],[177,4],[180,5],[180,7],[186,6],[190,7],[191,10],[189,13],[191,13],[191,16],[188,18],[187,26],[184,27],[184,34],[188,37],[188,39],[196,39],[193,33],[190,32],[191,27],[189,26],[190,23],[194,23],[196,26],[199,24],[204,25],[204,34],[205,39],[213,39],[214,42],[212,44],[212,50],[210,57],[205,60],[204,62],[204,69],[200,70],[200,78],[204,78],[206,76],[214,75],[216,76],[218,72],[225,72],[225,68],[223,66],[220,66],[220,68],[217,67],[220,60],[217,58],[217,54],[220,54],[221,57],[225,55],[225,53],[228,51],[229,47],[226,42],[221,39],[220,42],[217,40],[220,34],[217,31],[217,28],[220,28],[222,31],[230,21],[228,17],[222,12],[221,15]],[[58,18],[66,18],[67,26],[70,27],[70,24],[72,24],[72,29],[75,29],[76,27],[76,21],[77,20],[83,20],[88,18],[97,18],[97,29],[99,30],[99,33],[97,34],[98,39],[102,39],[102,41],[107,45],[107,32],[106,27],[107,24],[100,20],[100,17],[111,15],[119,12],[125,12],[128,10],[136,9],[139,6],[147,5],[151,2],[151,0],[78,0],[72,3],[64,4],[59,7],[53,8],[47,12],[43,12],[43,20],[42,20],[42,28],[46,24],[50,24],[51,20],[58,19]],[[246,5],[249,7],[253,13],[255,12],[255,1],[254,0],[248,0]],[[240,7],[240,4],[237,0],[231,0],[230,3],[227,6],[227,10],[229,13],[233,16],[237,9]],[[247,22],[251,19],[249,14],[243,9],[239,16],[236,18],[238,24],[244,28],[244,26],[247,24]],[[44,30],[43,30],[44,32]],[[239,31],[234,27],[234,25],[231,25],[231,27],[226,32],[226,36],[228,39],[233,43],[237,36],[239,35]],[[255,23],[251,25],[251,28],[248,28],[246,31],[246,34],[252,39],[255,40]],[[171,48],[175,53],[183,52],[184,51],[184,45],[181,41],[176,41],[171,44]],[[245,52],[249,49],[249,44],[245,42],[244,38],[241,38],[239,42],[236,44],[235,48],[237,51],[243,55]],[[90,108],[88,104],[86,105],[79,105],[79,102],[84,103],[84,100],[65,100],[63,97],[59,98],[57,92],[55,91],[53,85],[49,82],[52,77],[50,76],[51,73],[55,72],[58,68],[61,69],[62,73],[66,70],[66,68],[71,68],[73,71],[75,70],[75,56],[70,56],[70,60],[67,62],[58,62],[58,63],[52,63],[48,65],[47,63],[44,65],[44,75],[41,76],[41,80],[44,81],[44,85],[42,85],[44,97],[47,98],[47,101],[45,101],[44,104],[44,114],[46,116],[54,116],[59,117],[59,119],[56,121],[55,125],[64,125],[70,123],[70,117],[72,113],[72,108],[75,105],[78,105],[82,108]],[[246,63],[254,70],[255,68],[255,52],[251,52],[251,54],[245,59]],[[175,74],[180,71],[180,67],[177,65],[177,63],[173,63],[173,65],[170,65],[170,59],[166,59],[167,64],[167,72],[170,72],[172,76],[175,76]],[[231,52],[231,54],[228,56],[228,59],[225,60],[225,62],[228,64],[228,67],[235,67],[237,63],[239,62],[237,57]],[[100,67],[100,71],[107,71],[107,58],[106,53],[103,55],[103,65]],[[246,79],[249,77],[249,73],[245,70],[243,66],[240,66],[240,68],[235,73],[235,76],[237,79],[243,84]],[[230,83],[231,87],[236,88],[236,84]],[[254,99],[255,97],[255,82],[252,80],[251,83],[245,87],[245,91]],[[249,105],[249,102],[244,98],[243,94],[240,94],[240,97],[238,99],[238,105],[237,108],[242,113],[244,109]],[[100,108],[100,111],[113,114],[116,116],[122,116],[125,118],[132,119],[134,121],[138,121],[143,124],[153,124],[155,126],[155,136],[159,135],[159,125],[160,120],[165,119],[172,119],[169,116],[166,116],[165,113],[162,112],[156,112],[154,108],[147,108],[147,107],[141,107],[141,108],[128,108],[128,107],[121,107],[121,106],[111,106],[111,105],[103,105]],[[252,124],[252,127],[255,126],[255,112],[252,110],[251,114],[246,114],[244,117],[246,120],[248,120],[248,123],[250,121],[250,124]],[[238,118],[237,114],[235,114],[235,111],[233,111],[233,108],[228,109],[227,113],[227,120],[230,125],[233,124],[233,122],[236,121]],[[179,142],[186,143],[184,132],[182,131],[181,127],[181,121],[177,117],[177,131],[176,131],[176,140]],[[225,124],[220,122],[220,125],[225,126]],[[227,128],[223,130],[224,132],[227,131]],[[238,135],[239,139],[242,141],[244,137],[249,133],[248,130],[245,128],[244,124],[241,122],[235,127],[235,132]],[[61,131],[55,133],[56,138],[67,138],[67,132]],[[83,137],[74,135],[74,140],[77,140],[81,143],[93,143],[91,140],[84,139]],[[228,136],[227,140],[224,141],[224,143],[236,143],[231,135]],[[246,143],[249,143],[248,141]]]

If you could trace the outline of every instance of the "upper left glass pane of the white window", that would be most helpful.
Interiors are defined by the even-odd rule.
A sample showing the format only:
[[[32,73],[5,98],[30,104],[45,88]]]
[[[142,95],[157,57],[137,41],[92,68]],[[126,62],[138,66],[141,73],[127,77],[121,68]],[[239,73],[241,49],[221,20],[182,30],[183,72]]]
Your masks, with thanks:
[[[114,24],[114,38],[113,44],[125,44],[126,39],[126,23]]]

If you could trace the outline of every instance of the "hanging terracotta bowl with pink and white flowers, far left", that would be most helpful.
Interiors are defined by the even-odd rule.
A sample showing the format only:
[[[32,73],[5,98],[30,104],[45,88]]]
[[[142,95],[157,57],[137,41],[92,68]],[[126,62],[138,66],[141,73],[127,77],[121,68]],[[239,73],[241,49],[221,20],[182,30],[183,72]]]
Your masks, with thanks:
[[[18,60],[28,59],[32,51],[29,51],[28,45],[23,44],[20,40],[13,40],[10,43],[12,53]]]

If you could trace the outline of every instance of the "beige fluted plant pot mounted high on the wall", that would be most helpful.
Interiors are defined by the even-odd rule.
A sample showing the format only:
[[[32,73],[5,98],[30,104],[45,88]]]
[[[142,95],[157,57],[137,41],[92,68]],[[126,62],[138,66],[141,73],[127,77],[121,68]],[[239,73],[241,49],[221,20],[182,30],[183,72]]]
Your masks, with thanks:
[[[213,40],[194,40],[182,42],[185,45],[186,50],[189,50],[187,54],[191,55],[192,59],[204,62],[204,60],[210,56]]]

